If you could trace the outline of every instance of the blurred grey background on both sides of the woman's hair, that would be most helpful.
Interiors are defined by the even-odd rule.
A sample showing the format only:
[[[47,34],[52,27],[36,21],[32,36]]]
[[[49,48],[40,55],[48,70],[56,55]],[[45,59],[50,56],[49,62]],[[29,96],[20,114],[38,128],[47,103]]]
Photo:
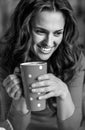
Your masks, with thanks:
[[[19,0],[0,0],[0,37],[5,33]],[[78,44],[85,52],[85,0],[69,0],[78,20]]]

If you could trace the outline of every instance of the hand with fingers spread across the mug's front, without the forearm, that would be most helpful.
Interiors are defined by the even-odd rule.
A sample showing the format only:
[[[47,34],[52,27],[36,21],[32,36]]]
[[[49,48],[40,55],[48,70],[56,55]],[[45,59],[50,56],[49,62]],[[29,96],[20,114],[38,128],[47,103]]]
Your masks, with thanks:
[[[30,89],[34,93],[45,93],[39,99],[48,99],[50,97],[61,97],[64,99],[68,93],[67,85],[53,74],[39,76],[38,81],[33,83]]]

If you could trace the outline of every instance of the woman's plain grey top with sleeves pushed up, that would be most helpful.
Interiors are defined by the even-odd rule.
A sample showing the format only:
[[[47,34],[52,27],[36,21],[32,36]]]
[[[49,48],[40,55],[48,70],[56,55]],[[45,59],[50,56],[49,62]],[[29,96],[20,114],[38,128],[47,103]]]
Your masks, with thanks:
[[[11,107],[10,111],[7,114],[8,115],[7,118],[10,120],[15,130],[19,130],[19,129],[25,130],[27,126],[28,127],[26,130],[45,130],[45,128],[46,130],[47,129],[57,130],[58,125],[61,126],[61,129],[63,130],[78,130],[78,128],[80,127],[82,123],[81,122],[82,121],[82,91],[83,91],[83,85],[84,85],[84,71],[85,71],[85,57],[82,53],[80,54],[78,62],[75,64],[75,68],[76,68],[76,71],[75,71],[74,76],[67,83],[69,91],[72,96],[72,100],[76,107],[73,115],[69,119],[60,121],[57,119],[57,114],[55,114],[54,111],[52,111],[48,107],[48,105],[47,105],[47,108],[41,112],[32,112],[31,114],[28,113],[26,115],[22,115],[21,113],[17,112],[13,107]],[[4,76],[1,76],[1,77],[4,77]],[[2,78],[1,78],[1,81],[2,81]],[[2,89],[2,86],[0,86],[0,91],[5,91]],[[11,102],[11,99],[10,99],[10,102]],[[9,106],[11,104],[10,102],[9,102]],[[2,100],[1,100],[1,104],[3,104]],[[0,111],[3,111],[3,110],[0,109]],[[57,107],[56,107],[56,111],[57,111]],[[5,115],[1,114],[2,119],[6,117],[6,113],[7,112],[5,112]],[[30,115],[31,115],[31,119],[30,119]],[[19,125],[19,123],[21,125]]]

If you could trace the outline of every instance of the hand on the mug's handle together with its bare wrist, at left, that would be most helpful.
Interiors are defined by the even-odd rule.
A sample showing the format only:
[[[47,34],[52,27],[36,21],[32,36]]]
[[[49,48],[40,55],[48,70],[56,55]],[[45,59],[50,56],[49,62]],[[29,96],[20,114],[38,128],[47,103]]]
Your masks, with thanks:
[[[3,81],[3,86],[5,87],[8,95],[14,99],[12,105],[15,107],[15,109],[26,114],[29,110],[27,109],[25,98],[22,97],[20,82],[21,81],[17,75],[12,74],[7,76],[7,78]]]

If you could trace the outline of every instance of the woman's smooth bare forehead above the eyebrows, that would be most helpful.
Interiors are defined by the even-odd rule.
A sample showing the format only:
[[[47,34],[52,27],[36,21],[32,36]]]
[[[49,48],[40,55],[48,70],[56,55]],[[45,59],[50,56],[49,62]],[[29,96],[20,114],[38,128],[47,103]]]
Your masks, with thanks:
[[[46,29],[63,29],[65,18],[63,13],[60,11],[42,11],[35,15],[33,25]]]

